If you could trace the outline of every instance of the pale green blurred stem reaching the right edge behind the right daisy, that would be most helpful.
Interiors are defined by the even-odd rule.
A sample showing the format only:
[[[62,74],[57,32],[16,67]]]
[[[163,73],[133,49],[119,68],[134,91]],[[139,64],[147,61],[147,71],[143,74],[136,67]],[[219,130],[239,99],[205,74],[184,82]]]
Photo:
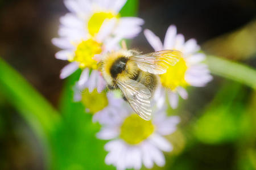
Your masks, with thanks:
[[[209,69],[213,74],[228,78],[256,89],[256,70],[215,56],[208,56]]]

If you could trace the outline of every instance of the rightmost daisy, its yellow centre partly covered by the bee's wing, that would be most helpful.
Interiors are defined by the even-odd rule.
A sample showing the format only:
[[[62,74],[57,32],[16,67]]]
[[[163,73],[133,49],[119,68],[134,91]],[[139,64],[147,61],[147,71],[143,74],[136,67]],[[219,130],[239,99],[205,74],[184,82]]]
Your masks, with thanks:
[[[203,87],[212,80],[208,66],[202,63],[205,54],[199,52],[200,46],[197,45],[196,40],[189,39],[185,42],[184,36],[177,34],[175,25],[170,25],[167,29],[163,44],[159,37],[148,29],[144,30],[144,35],[155,51],[175,49],[183,52],[183,58],[180,58],[175,66],[169,67],[166,73],[159,75],[162,88],[167,91],[172,108],[177,107],[179,95],[187,99],[186,87]]]

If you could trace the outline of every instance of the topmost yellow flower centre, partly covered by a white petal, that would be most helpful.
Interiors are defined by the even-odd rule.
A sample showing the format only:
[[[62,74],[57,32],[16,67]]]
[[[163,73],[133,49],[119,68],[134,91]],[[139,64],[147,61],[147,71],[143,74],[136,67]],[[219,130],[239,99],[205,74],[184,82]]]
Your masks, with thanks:
[[[101,25],[105,19],[117,18],[113,12],[96,12],[88,21],[88,31],[90,35],[95,36],[100,31]]]

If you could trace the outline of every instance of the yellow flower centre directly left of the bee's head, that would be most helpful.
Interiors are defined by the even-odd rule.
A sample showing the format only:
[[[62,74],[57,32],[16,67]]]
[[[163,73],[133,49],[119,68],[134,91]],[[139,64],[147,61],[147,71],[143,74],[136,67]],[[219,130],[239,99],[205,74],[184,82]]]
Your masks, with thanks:
[[[101,44],[93,39],[80,42],[77,45],[75,56],[69,59],[70,62],[79,62],[79,67],[84,69],[88,67],[90,69],[97,69],[97,61],[93,59],[95,54],[101,53]]]

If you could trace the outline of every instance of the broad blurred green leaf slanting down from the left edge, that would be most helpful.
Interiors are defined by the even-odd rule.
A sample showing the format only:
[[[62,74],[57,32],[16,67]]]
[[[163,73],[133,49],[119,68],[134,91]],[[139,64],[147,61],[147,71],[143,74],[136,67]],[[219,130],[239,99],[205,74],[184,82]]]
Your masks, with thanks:
[[[17,71],[0,58],[0,88],[3,96],[14,105],[28,122],[44,147],[49,162],[49,133],[59,114]],[[3,113],[4,114],[4,113]]]

